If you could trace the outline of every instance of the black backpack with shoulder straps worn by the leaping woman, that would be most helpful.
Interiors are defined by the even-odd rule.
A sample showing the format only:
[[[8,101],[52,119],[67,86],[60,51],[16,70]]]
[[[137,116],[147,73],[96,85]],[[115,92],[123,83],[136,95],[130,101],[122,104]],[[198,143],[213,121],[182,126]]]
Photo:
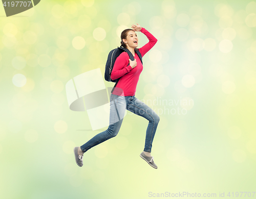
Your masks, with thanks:
[[[108,82],[116,82],[115,86],[113,87],[111,93],[113,92],[114,88],[116,87],[118,81],[120,80],[120,78],[116,79],[116,80],[112,80],[111,79],[111,72],[113,70],[113,66],[115,64],[115,61],[116,61],[116,58],[122,53],[122,52],[126,52],[128,53],[130,59],[132,61],[134,61],[134,57],[133,57],[133,54],[129,51],[129,49],[125,48],[125,47],[117,47],[115,49],[113,49],[110,53],[109,53],[109,56],[108,56],[108,60],[106,61],[106,66],[105,66],[105,80],[108,81]],[[139,56],[140,58],[140,61],[142,63],[142,56],[139,52],[139,50],[135,49],[135,53],[137,53],[137,55]]]

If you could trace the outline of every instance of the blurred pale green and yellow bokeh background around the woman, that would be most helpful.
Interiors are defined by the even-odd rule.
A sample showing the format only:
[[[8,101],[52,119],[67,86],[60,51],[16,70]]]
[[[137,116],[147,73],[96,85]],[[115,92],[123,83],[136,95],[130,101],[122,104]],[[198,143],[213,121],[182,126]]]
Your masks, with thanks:
[[[0,13],[1,198],[256,191],[255,1],[41,1]],[[65,85],[96,68],[103,78],[108,53],[134,23],[158,39],[135,95],[160,116],[158,169],[139,157],[148,121],[130,113],[78,167],[73,147],[107,127],[92,131],[87,112],[71,111]],[[148,41],[138,37],[139,47]]]

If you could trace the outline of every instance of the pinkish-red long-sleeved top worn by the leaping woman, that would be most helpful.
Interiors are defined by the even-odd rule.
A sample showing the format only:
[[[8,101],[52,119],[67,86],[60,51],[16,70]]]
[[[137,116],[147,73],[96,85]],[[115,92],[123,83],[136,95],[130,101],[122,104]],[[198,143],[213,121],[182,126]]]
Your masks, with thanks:
[[[139,52],[143,57],[156,44],[157,39],[144,28],[142,28],[140,32],[146,35],[147,39],[149,40],[147,44],[139,48]],[[134,57],[137,62],[136,67],[132,68],[132,66],[129,65],[129,58],[129,55],[126,52],[123,52],[117,57],[115,64],[113,66],[113,70],[111,72],[111,79],[115,80],[121,77],[115,89],[112,92],[115,95],[135,95],[137,83],[139,81],[139,76],[141,71],[143,70],[143,65],[137,53],[135,53]]]

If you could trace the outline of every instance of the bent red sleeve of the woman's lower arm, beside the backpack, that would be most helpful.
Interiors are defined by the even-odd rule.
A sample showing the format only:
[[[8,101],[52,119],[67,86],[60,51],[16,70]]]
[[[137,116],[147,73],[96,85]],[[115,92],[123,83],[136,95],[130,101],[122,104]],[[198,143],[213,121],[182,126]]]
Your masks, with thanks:
[[[130,72],[132,69],[132,66],[129,65],[129,55],[126,52],[123,52],[116,58],[111,72],[111,79],[116,80],[127,72]]]

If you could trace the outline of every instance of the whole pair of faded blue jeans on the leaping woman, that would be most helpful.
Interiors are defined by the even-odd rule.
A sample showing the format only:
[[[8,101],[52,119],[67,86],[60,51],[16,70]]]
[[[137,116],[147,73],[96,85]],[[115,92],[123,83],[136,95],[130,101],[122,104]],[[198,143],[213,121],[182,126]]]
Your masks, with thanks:
[[[121,127],[125,109],[135,113],[136,115],[146,118],[148,126],[146,129],[146,139],[144,152],[151,152],[152,142],[160,120],[159,116],[146,104],[133,96],[119,96],[111,93],[110,95],[110,125],[109,128],[81,145],[82,152],[87,152],[93,146],[100,144],[110,138],[115,137]]]

